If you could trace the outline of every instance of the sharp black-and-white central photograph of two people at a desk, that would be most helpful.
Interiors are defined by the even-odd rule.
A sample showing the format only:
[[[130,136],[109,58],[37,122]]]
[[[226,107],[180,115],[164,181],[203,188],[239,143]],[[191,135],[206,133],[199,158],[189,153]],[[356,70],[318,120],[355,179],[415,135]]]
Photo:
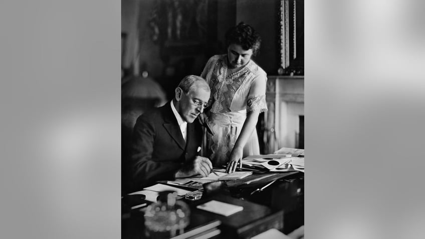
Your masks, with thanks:
[[[122,238],[304,228],[304,0],[121,0],[121,105]]]

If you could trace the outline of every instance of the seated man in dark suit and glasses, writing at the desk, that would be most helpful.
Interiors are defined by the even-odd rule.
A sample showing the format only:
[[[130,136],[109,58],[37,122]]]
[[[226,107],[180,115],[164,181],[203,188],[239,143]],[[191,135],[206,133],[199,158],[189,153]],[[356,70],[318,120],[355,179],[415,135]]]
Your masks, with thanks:
[[[134,189],[158,180],[209,174],[211,162],[197,155],[202,129],[195,121],[209,94],[204,79],[186,76],[175,89],[173,100],[138,117],[132,139]]]

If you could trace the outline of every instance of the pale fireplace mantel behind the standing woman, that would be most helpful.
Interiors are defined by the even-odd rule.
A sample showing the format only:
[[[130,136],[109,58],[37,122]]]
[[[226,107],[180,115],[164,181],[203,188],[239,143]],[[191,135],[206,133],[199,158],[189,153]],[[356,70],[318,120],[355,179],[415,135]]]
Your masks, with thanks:
[[[264,152],[298,147],[299,115],[304,115],[304,76],[268,76]]]

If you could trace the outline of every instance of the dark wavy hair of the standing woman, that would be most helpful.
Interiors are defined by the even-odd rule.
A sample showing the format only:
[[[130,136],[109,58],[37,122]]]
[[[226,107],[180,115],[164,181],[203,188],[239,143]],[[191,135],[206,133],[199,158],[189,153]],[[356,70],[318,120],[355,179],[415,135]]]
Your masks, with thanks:
[[[239,23],[237,26],[229,29],[225,35],[226,48],[231,44],[241,45],[244,50],[253,50],[253,55],[256,56],[260,50],[261,37],[260,35],[248,24],[244,22]]]

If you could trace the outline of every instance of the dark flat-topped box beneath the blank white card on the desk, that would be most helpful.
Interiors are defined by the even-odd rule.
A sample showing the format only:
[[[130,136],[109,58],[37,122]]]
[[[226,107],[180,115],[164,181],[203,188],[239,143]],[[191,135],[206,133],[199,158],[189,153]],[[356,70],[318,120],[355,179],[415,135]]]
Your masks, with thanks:
[[[192,207],[193,213],[199,213],[200,210],[202,211],[200,213],[203,213],[206,217],[221,220],[222,225],[219,228],[222,230],[221,236],[223,238],[250,238],[270,228],[283,228],[283,211],[272,213],[272,210],[267,206],[228,195],[218,194],[207,199],[202,198],[192,205],[196,206],[209,200],[217,200],[244,207],[244,210],[230,216],[223,216]]]

